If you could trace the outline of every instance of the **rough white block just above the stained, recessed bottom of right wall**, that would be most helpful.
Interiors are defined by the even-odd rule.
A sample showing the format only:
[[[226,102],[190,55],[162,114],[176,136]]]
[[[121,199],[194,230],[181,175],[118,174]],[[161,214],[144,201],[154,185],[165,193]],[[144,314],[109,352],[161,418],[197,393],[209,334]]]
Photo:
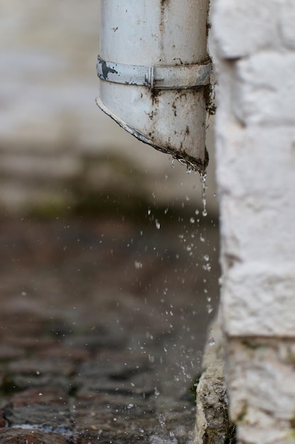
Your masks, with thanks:
[[[221,313],[226,334],[295,337],[295,262],[253,260],[224,276]]]

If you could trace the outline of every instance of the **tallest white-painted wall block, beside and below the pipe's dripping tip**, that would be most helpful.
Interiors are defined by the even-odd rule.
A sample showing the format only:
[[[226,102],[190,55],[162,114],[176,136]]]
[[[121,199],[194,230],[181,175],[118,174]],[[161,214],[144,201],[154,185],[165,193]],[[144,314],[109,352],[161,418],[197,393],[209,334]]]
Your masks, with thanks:
[[[294,128],[242,128],[218,116],[216,150],[224,258],[293,261]]]

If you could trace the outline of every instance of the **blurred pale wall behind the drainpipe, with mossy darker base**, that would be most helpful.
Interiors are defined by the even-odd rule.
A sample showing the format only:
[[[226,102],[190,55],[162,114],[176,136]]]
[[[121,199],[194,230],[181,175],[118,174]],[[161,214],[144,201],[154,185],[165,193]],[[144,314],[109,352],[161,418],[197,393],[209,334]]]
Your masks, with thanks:
[[[199,178],[98,110],[99,1],[1,1],[0,206],[71,205],[75,190],[188,196]],[[212,145],[212,135],[209,145]],[[212,155],[212,148],[209,147]],[[216,213],[214,162],[209,208]]]

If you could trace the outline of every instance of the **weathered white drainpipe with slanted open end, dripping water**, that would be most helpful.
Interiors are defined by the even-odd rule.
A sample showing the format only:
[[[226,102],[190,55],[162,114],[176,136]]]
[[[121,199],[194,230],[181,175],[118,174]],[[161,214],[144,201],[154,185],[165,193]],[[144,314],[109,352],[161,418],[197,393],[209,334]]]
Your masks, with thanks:
[[[139,140],[202,171],[208,0],[101,0],[97,104]]]

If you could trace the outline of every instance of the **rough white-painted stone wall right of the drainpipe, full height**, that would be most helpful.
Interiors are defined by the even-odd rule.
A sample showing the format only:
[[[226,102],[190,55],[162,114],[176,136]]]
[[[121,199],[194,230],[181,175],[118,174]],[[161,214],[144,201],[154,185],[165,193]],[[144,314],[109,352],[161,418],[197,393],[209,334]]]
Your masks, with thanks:
[[[295,4],[215,0],[221,316],[240,444],[295,443]]]

